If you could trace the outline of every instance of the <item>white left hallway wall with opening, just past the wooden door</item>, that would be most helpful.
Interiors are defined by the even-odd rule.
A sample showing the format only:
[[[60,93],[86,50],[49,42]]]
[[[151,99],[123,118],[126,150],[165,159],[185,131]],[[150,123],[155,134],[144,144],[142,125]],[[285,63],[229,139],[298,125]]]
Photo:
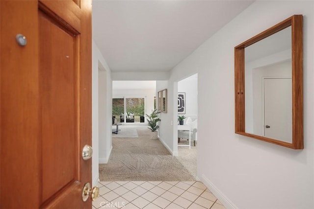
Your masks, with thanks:
[[[101,75],[99,76],[99,71]],[[100,83],[101,82],[101,83]],[[99,100],[99,95],[100,100]],[[93,186],[99,178],[99,163],[105,163],[112,149],[111,113],[112,113],[112,80],[110,69],[92,41],[92,181]],[[104,104],[99,112],[99,103]],[[101,117],[101,118],[100,118]],[[99,127],[99,122],[101,127]],[[101,136],[100,136],[101,134]],[[101,145],[101,146],[99,146]]]

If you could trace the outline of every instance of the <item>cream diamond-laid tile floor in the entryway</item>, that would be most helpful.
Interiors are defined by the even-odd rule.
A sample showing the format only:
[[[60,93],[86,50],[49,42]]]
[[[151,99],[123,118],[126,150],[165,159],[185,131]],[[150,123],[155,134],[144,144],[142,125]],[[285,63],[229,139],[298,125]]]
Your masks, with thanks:
[[[225,209],[202,182],[99,182],[93,209]]]

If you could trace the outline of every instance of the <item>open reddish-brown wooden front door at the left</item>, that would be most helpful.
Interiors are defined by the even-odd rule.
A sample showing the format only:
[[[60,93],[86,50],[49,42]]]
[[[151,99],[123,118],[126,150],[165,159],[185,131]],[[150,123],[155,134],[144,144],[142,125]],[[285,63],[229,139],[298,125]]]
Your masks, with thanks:
[[[91,0],[0,0],[0,26],[0,208],[90,209]]]

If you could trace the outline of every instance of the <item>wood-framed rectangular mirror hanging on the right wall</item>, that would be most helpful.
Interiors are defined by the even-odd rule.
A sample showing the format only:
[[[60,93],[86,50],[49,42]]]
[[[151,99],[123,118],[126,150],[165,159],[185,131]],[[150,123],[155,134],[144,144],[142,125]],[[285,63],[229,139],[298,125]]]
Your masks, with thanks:
[[[235,46],[235,133],[303,149],[303,16]]]

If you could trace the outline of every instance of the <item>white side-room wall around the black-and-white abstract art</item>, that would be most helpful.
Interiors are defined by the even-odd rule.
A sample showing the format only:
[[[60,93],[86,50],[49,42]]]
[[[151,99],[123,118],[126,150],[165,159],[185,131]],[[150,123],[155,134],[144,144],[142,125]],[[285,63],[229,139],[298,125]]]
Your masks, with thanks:
[[[185,93],[184,116],[195,117],[197,115],[197,75],[179,81],[178,92]]]

